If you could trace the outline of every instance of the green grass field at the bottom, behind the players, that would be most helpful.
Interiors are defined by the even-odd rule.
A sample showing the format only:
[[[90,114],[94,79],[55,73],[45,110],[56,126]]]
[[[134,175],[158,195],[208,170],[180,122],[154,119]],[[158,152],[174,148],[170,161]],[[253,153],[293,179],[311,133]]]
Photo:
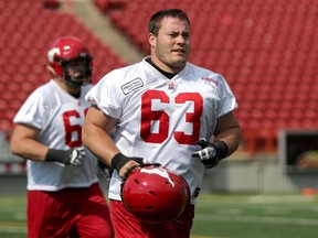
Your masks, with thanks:
[[[318,196],[201,195],[191,234],[191,238],[317,238]],[[24,196],[0,196],[0,237],[26,237]]]

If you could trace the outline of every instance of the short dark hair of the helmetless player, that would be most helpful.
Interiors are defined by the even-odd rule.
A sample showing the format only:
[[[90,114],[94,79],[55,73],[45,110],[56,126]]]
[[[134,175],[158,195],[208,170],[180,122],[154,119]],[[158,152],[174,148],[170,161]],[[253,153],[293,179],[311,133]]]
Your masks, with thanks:
[[[148,32],[157,36],[159,29],[161,28],[162,19],[166,17],[179,18],[187,21],[189,23],[189,26],[191,26],[190,20],[184,11],[180,9],[165,9],[151,15],[148,23]]]

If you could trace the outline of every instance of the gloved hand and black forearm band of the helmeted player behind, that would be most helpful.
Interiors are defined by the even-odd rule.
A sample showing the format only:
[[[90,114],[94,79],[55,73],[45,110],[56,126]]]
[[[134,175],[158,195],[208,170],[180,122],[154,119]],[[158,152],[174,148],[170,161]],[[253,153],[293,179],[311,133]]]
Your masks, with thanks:
[[[45,160],[80,166],[85,160],[85,148],[73,148],[70,150],[49,149]]]

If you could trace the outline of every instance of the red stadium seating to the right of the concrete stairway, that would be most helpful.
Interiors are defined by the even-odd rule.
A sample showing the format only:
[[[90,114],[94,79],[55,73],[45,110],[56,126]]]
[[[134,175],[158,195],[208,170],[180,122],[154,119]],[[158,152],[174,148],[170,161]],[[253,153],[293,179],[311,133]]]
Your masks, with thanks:
[[[190,61],[225,76],[252,153],[275,152],[279,129],[317,129],[316,0],[93,1],[145,53],[151,13],[186,10],[193,26]]]

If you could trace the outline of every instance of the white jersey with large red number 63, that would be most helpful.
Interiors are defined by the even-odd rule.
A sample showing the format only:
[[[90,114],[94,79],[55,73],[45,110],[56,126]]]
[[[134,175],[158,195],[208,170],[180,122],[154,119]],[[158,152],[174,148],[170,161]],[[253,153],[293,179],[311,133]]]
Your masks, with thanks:
[[[220,74],[187,63],[169,79],[145,58],[107,74],[86,100],[118,119],[114,140],[123,154],[145,158],[182,175],[193,204],[204,172],[201,161],[191,158],[200,149],[194,143],[211,138],[216,119],[237,107]],[[109,198],[120,199],[120,183],[115,171]]]

